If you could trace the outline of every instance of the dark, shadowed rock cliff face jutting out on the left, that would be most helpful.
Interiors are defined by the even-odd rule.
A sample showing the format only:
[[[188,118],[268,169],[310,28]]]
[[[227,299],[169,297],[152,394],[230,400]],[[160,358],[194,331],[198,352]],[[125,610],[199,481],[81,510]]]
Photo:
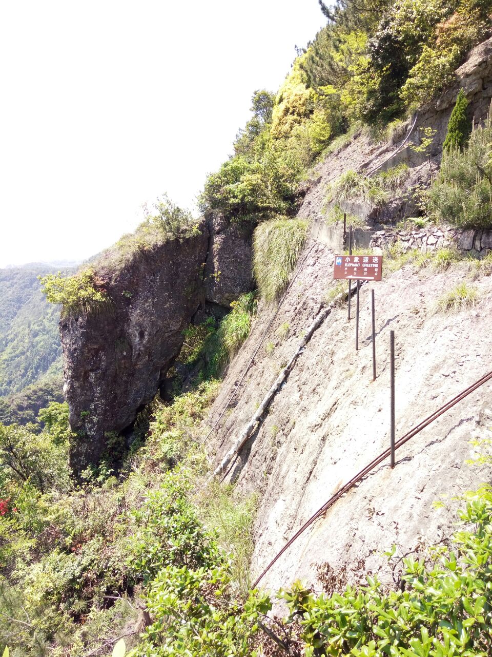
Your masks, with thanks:
[[[157,392],[201,300],[208,237],[201,225],[195,237],[164,242],[117,273],[103,262],[98,275],[113,311],[60,322],[75,471],[97,463],[106,434],[129,426]]]

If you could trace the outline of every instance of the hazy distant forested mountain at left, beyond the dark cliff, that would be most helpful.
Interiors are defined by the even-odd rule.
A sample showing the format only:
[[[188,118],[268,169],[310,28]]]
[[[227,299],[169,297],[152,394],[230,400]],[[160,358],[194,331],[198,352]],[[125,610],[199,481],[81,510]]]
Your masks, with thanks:
[[[61,399],[60,309],[48,304],[38,275],[72,267],[30,263],[0,269],[0,422],[30,421]]]

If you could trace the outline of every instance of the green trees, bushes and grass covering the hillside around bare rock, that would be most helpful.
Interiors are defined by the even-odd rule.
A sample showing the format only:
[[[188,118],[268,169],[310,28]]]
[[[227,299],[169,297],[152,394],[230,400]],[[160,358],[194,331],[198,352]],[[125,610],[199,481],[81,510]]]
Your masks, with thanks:
[[[223,319],[201,317],[184,329],[165,390],[125,435],[106,434],[102,460],[77,478],[67,464],[74,436],[65,403],[33,405],[25,426],[11,423],[10,409],[9,422],[0,424],[0,648],[9,646],[10,656],[120,657],[125,650],[133,657],[485,657],[491,652],[487,482],[455,501],[453,508],[461,507],[459,525],[440,545],[403,556],[388,545],[392,583],[361,572],[347,585],[328,574],[324,591],[294,582],[266,592],[251,588],[249,574],[258,494],[241,495],[210,476],[207,414],[258,309],[268,311],[291,281],[308,236],[308,222],[296,212],[310,167],[361,131],[374,140],[398,133],[408,114],[435,99],[453,81],[468,49],[491,32],[490,0],[320,4],[327,26],[299,51],[277,93],[254,93],[252,118],[239,131],[233,156],[209,175],[200,198],[205,215],[220,213],[232,224],[255,229],[258,290],[239,296]],[[422,191],[423,221],[491,227],[490,118],[469,135],[462,112],[461,95],[443,166],[430,191]],[[426,139],[432,141],[432,135]],[[429,143],[422,139],[416,147],[425,155]],[[382,202],[382,196],[398,195],[406,175],[405,167],[371,179],[349,171],[327,191],[331,209],[339,215],[337,204],[344,198],[371,196]],[[100,261],[73,277],[45,273],[43,290],[61,305],[64,317],[111,313],[106,287],[111,277],[155,244],[186,239],[195,231],[192,217],[166,198]],[[489,256],[464,263],[451,251],[426,257],[401,244],[387,256],[385,276],[405,265],[442,277],[463,267],[472,281],[491,271]],[[2,343],[7,355],[0,373],[5,391],[25,392],[39,373],[55,367],[58,342],[50,331],[58,310],[39,301],[27,274],[12,281],[18,291],[1,315],[2,336],[8,339]],[[473,307],[472,281],[453,288],[436,313]],[[339,292],[329,289],[318,308]],[[297,290],[293,294],[301,296]],[[27,325],[22,318],[29,316],[31,298],[36,311]],[[298,300],[301,310],[302,303]],[[291,327],[283,322],[276,330],[281,343]],[[255,366],[276,348],[274,342],[264,345]],[[277,376],[285,362],[272,359],[270,365]],[[289,413],[287,420],[295,424],[300,403]],[[275,456],[279,426],[269,431],[268,453]],[[480,463],[490,463],[489,446],[489,434],[477,442]],[[255,490],[268,477],[265,469]],[[283,619],[272,614],[279,600],[287,605]]]

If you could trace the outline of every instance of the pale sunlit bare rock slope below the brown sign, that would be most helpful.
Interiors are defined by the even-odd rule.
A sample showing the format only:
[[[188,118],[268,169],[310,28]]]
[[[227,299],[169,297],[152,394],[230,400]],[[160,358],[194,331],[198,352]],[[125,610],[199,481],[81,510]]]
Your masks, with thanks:
[[[333,254],[320,244],[289,291],[255,363],[239,388],[232,411],[217,430],[216,463],[249,421],[296,348],[302,331],[319,311],[331,285]],[[435,312],[443,291],[464,280],[457,267],[443,274],[415,273],[411,265],[381,283],[377,298],[377,380],[372,381],[371,285],[361,288],[360,348],[346,308],[332,313],[316,331],[228,474],[245,493],[261,495],[255,525],[253,578],[335,491],[389,444],[389,332],[396,332],[396,434],[405,434],[491,368],[492,279],[474,283],[478,304],[456,315]],[[354,304],[352,305],[354,312]],[[266,328],[273,309],[264,309],[245,348],[237,355],[212,422]],[[285,336],[288,325],[287,336]],[[284,337],[285,336],[285,337]],[[273,347],[272,347],[273,346]],[[363,562],[391,577],[384,549],[401,553],[439,541],[453,531],[450,503],[482,480],[485,472],[464,464],[472,432],[487,430],[489,382],[442,415],[397,452],[397,465],[382,464],[338,501],[281,557],[263,580],[277,589],[304,578],[319,589],[317,567]],[[443,497],[441,497],[443,496]]]

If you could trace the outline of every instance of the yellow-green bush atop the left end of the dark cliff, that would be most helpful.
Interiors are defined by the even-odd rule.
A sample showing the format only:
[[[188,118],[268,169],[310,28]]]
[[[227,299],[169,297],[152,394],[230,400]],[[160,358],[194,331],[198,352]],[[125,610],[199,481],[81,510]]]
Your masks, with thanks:
[[[61,272],[40,276],[39,281],[51,304],[62,305],[62,316],[94,315],[113,307],[104,286],[98,283],[94,269],[87,267],[75,276],[64,278]]]

